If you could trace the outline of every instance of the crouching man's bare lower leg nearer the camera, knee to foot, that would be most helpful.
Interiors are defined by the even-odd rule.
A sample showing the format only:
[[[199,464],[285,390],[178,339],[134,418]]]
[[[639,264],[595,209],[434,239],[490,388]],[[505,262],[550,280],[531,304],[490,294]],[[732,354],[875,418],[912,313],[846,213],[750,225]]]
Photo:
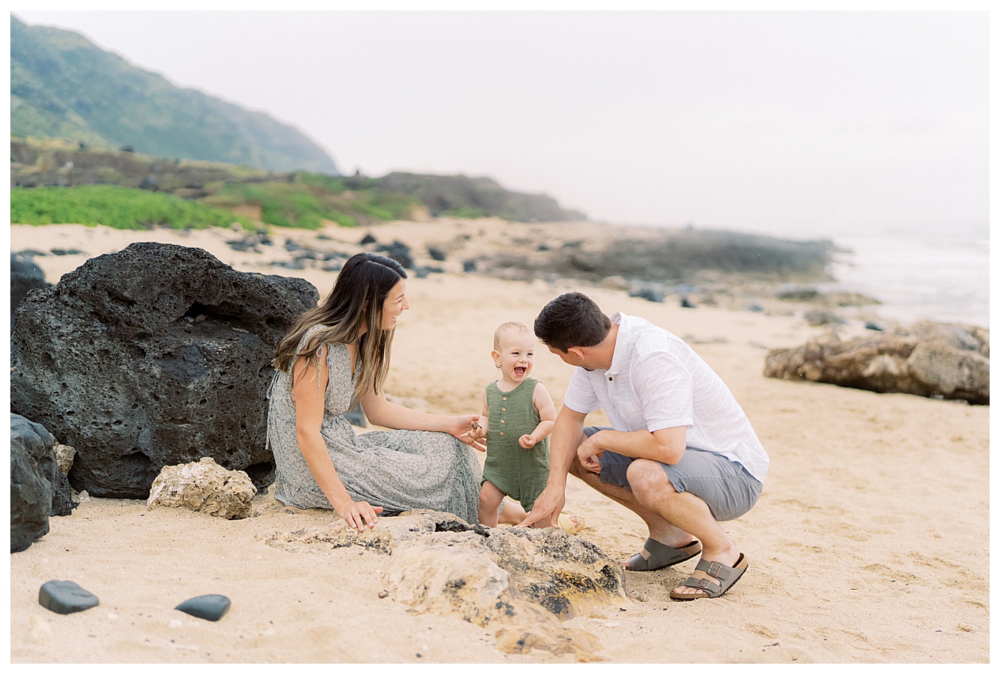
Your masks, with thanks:
[[[678,492],[670,478],[656,461],[636,459],[628,467],[628,481],[633,498],[643,507],[662,517],[673,526],[698,537],[701,541],[701,558],[709,562],[722,562],[732,566],[739,559],[736,541],[726,535],[712,517],[708,505],[694,494]],[[624,504],[623,504],[624,505]],[[692,574],[699,579],[709,578],[703,571]],[[694,594],[693,587],[678,587],[675,592]]]

